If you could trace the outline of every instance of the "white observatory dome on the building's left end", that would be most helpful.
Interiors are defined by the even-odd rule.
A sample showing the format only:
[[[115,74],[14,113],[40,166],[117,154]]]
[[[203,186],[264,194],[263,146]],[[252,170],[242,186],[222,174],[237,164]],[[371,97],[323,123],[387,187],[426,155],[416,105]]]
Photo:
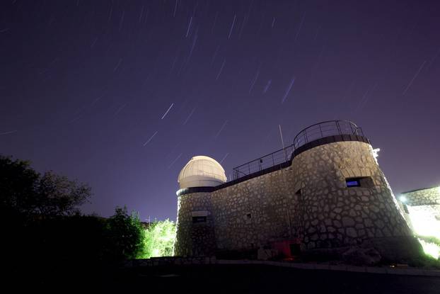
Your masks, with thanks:
[[[178,183],[181,189],[190,187],[214,187],[226,182],[223,167],[207,156],[192,157],[180,171]]]

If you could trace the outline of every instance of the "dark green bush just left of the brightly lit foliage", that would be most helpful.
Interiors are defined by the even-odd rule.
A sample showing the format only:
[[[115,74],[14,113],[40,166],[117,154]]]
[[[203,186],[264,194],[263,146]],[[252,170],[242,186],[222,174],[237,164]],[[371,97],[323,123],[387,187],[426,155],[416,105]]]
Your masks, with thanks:
[[[116,208],[107,221],[108,254],[110,259],[134,259],[144,244],[144,228],[139,216],[127,213],[127,208]]]

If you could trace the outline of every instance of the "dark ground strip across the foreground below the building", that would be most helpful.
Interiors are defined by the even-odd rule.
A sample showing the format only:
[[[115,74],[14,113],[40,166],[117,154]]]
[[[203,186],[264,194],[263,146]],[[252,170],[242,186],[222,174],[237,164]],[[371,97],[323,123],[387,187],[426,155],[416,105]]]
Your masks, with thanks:
[[[93,293],[439,293],[440,277],[306,270],[266,265],[115,268],[54,263],[4,280],[14,292]],[[50,267],[50,268],[49,268]],[[10,272],[11,273],[11,272]],[[9,283],[8,283],[9,282]],[[6,284],[9,284],[6,287]],[[25,291],[28,292],[28,291]]]

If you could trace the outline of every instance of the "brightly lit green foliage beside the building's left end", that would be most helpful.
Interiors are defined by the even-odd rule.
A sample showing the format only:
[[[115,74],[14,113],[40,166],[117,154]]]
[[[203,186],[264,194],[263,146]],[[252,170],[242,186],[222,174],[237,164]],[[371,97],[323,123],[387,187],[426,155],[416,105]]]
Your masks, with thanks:
[[[138,254],[137,258],[173,256],[175,230],[175,222],[168,219],[149,224],[149,227],[144,230],[143,251]]]

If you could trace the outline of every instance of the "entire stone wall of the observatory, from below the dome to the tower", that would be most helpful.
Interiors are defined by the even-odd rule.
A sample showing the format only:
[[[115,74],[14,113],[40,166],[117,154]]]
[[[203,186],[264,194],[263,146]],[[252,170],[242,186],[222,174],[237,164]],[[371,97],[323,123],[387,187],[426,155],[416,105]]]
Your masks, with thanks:
[[[362,178],[361,186],[347,188],[347,178]],[[366,240],[374,245],[374,239],[380,239],[376,244],[391,244],[387,240],[393,237],[412,242],[371,145],[364,142],[314,147],[297,155],[286,169],[211,193],[181,195],[178,203],[178,255],[257,249],[289,239],[301,240],[303,249],[361,245]],[[209,211],[207,223],[190,222],[195,210]],[[205,226],[214,239],[202,237],[206,232],[195,225]]]

